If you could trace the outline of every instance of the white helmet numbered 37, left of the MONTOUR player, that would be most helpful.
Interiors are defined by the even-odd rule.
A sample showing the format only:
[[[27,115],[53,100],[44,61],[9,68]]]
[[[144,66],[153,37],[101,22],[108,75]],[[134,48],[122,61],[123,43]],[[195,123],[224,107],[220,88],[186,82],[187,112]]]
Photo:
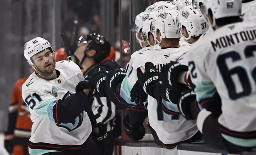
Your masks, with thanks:
[[[189,40],[192,36],[197,37],[204,34],[208,30],[208,23],[204,16],[200,13],[199,9],[192,9],[190,6],[183,6],[180,9],[180,13],[177,15],[177,26],[178,30],[181,31],[181,35]],[[182,25],[186,27],[189,34],[186,38],[182,34]]]

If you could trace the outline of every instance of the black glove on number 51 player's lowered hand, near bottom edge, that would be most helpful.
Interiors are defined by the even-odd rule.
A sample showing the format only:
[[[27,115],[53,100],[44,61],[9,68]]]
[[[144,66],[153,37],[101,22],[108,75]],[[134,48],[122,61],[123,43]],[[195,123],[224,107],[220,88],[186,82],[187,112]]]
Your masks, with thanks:
[[[97,127],[99,128],[99,133],[92,132],[92,136],[99,149],[101,149],[101,153],[104,153],[107,148],[107,127],[103,123],[97,123]]]

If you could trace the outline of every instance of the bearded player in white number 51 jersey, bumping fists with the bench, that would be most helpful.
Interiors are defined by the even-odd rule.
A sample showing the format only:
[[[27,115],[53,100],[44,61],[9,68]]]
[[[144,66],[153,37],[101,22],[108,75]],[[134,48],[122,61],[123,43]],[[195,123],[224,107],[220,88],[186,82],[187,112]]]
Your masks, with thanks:
[[[100,155],[95,142],[101,147],[107,131],[89,109],[91,86],[79,66],[56,62],[54,48],[40,37],[25,43],[24,56],[35,69],[22,85],[33,122],[29,154]]]

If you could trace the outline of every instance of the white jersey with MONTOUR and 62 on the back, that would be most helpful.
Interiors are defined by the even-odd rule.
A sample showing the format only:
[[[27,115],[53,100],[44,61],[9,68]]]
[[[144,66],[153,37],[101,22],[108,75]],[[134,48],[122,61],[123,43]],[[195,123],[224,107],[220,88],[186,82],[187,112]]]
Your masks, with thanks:
[[[256,24],[230,24],[206,35],[189,53],[197,101],[217,91],[223,138],[239,146],[256,146],[255,138],[249,140],[256,134]]]

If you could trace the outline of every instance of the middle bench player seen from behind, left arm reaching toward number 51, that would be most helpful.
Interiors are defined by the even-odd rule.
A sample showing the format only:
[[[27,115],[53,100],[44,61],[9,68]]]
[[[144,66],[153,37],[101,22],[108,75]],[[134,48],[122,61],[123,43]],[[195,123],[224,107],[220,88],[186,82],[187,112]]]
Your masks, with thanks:
[[[170,60],[175,60],[181,53],[187,51],[185,47],[179,48],[181,36],[176,26],[177,15],[178,11],[175,9],[161,11],[155,17],[155,24],[151,25],[151,30],[156,33],[154,36],[157,36],[155,38],[158,39],[162,49],[149,49],[133,53],[128,64],[131,66],[128,66],[126,70],[127,75],[122,69],[117,69],[107,73],[106,79],[106,82],[109,81],[107,86],[111,87],[123,104],[130,106],[145,104],[144,106],[149,113],[150,126],[155,131],[155,134],[152,133],[154,138],[159,139],[161,144],[168,149],[174,149],[177,144],[182,142],[195,142],[201,138],[201,134],[198,132],[194,121],[186,121],[178,115],[176,105],[163,101],[163,105],[173,106],[172,114],[174,115],[170,115],[163,112],[162,103],[157,103],[155,98],[148,96],[148,104],[144,102],[147,100],[147,94],[142,91],[143,87],[138,81],[137,68],[150,61],[160,71],[161,67],[168,64]],[[103,83],[99,85],[101,87]]]

